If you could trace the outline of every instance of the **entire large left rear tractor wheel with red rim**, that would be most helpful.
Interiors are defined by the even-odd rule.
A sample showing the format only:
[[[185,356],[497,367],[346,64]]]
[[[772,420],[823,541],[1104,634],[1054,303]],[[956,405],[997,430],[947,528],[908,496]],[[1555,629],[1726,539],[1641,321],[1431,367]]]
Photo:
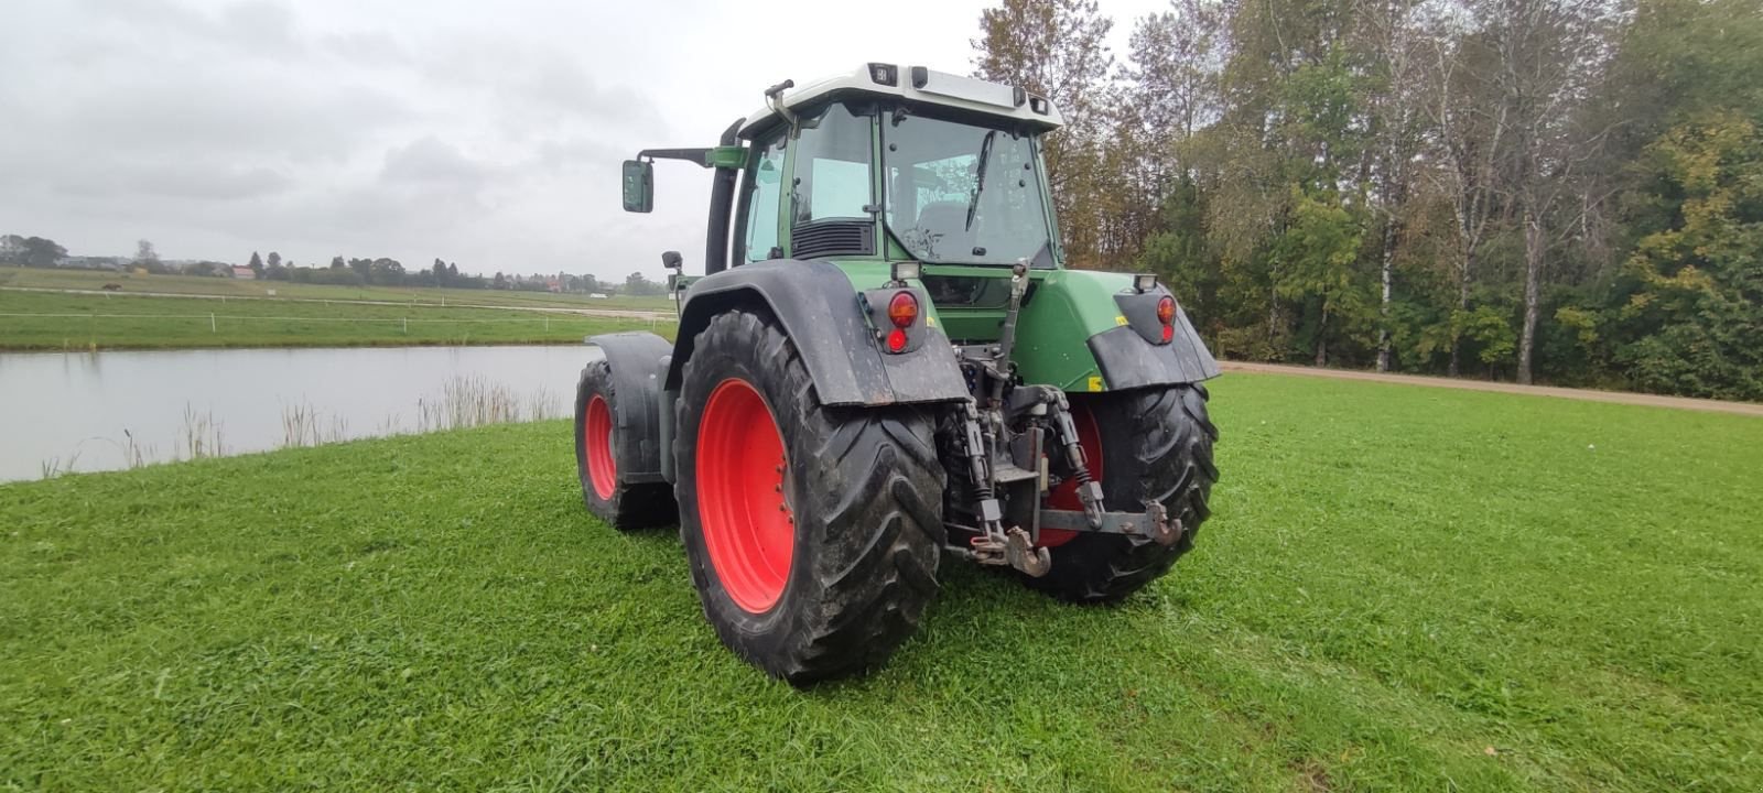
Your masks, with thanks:
[[[679,400],[681,539],[716,634],[795,686],[885,661],[936,596],[931,416],[825,407],[765,314],[698,335]]]

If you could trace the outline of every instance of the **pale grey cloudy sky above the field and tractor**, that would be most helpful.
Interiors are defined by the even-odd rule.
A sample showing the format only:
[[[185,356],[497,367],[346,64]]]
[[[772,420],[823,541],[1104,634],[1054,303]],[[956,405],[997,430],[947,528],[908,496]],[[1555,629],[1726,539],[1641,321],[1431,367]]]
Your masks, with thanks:
[[[74,254],[391,256],[702,271],[714,145],[760,92],[867,60],[971,69],[978,0],[0,0],[0,233]],[[1104,0],[1116,55],[1162,0]]]

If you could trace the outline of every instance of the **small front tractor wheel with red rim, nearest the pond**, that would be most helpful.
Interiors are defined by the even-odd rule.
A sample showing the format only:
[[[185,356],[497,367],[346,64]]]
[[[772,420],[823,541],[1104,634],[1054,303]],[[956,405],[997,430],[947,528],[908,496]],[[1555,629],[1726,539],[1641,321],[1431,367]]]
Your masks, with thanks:
[[[615,529],[672,525],[673,492],[666,483],[619,481],[619,449],[642,441],[619,426],[617,416],[612,365],[603,359],[589,363],[575,388],[575,472],[582,481],[582,502]]]

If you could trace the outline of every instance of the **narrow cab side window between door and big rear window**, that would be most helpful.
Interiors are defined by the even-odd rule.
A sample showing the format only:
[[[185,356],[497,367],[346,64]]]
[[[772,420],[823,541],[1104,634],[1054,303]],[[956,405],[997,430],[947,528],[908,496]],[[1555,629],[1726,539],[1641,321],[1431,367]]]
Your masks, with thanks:
[[[790,226],[820,220],[869,220],[873,203],[869,118],[832,104],[804,123],[795,146],[795,215]]]

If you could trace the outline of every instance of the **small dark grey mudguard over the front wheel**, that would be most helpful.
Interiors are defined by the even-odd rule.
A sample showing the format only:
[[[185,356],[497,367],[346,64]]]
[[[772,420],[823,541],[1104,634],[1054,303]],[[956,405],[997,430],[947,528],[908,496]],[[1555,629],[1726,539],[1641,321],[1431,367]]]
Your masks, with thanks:
[[[661,382],[659,365],[673,345],[654,333],[603,333],[587,337],[612,368],[614,453],[619,481],[654,483],[661,476]],[[635,442],[633,442],[635,441]]]

